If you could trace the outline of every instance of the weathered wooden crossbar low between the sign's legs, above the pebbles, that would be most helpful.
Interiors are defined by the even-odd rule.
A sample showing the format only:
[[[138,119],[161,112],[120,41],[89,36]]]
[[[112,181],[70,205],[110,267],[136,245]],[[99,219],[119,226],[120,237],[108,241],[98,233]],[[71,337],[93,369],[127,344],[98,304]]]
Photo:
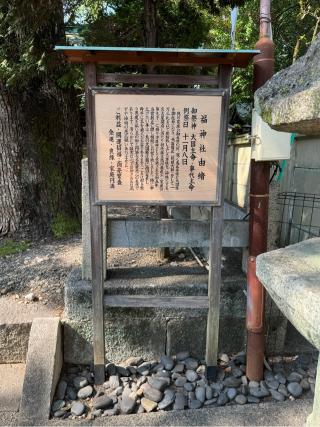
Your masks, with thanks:
[[[208,308],[207,296],[106,295],[108,307],[132,308]]]

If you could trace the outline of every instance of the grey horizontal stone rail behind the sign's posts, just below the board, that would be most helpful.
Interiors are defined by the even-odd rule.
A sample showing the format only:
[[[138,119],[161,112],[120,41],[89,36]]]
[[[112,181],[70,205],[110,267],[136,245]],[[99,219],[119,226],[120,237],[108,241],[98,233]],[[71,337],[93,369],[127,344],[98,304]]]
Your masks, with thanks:
[[[195,220],[109,219],[107,246],[110,248],[208,247],[210,224]],[[223,221],[224,247],[248,246],[248,222]]]

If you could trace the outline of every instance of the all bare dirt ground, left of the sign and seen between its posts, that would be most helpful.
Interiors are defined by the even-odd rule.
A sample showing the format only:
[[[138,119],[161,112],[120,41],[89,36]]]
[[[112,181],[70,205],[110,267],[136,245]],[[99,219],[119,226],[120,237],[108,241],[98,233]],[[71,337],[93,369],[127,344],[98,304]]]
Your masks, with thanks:
[[[158,218],[156,207],[109,209],[112,217]],[[159,259],[157,249],[108,249],[108,268],[145,267],[168,262],[179,266],[194,266],[197,262],[190,251],[172,249],[170,260]],[[75,267],[81,266],[81,235],[67,239],[43,239],[28,249],[0,257],[0,297],[15,299],[19,304],[39,304],[56,312],[64,308],[64,284]]]

